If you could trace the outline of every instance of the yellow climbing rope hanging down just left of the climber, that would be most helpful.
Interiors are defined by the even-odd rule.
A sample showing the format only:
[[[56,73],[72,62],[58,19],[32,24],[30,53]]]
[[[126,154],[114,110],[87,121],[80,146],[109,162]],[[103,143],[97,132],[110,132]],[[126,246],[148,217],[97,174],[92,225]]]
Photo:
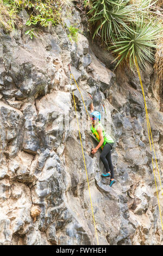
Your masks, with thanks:
[[[70,78],[71,78],[71,75],[72,75],[72,74],[71,74],[71,71],[70,71]],[[73,76],[73,75],[72,75],[72,76]],[[74,79],[74,77],[73,77],[73,79]],[[76,82],[75,79],[74,79],[74,81]],[[76,83],[76,84],[77,84],[77,83]],[[72,85],[72,84],[71,84],[71,85]],[[78,87],[78,85],[77,85],[77,87]],[[79,89],[79,87],[78,87],[78,89]],[[80,89],[79,89],[79,91],[80,91]],[[92,206],[92,199],[91,199],[91,192],[90,192],[89,179],[88,179],[88,176],[87,176],[87,170],[86,170],[86,164],[85,164],[85,157],[84,157],[84,151],[83,151],[82,138],[81,138],[81,135],[80,135],[80,128],[79,128],[79,122],[78,122],[76,101],[75,101],[75,99],[74,99],[74,93],[73,93],[73,92],[72,92],[72,94],[73,94],[74,107],[75,107],[75,109],[76,109],[76,118],[77,118],[77,124],[78,124],[79,136],[80,136],[80,144],[81,144],[81,147],[82,147],[82,154],[83,154],[83,160],[84,160],[84,166],[85,166],[85,173],[86,173],[87,185],[88,185],[88,188],[89,188],[89,195],[90,195],[90,202],[91,202],[93,223],[94,223],[94,227],[95,227],[97,245],[99,245],[99,243],[98,243],[98,236],[97,236],[97,229],[96,229],[96,223],[95,223],[95,217],[94,217],[94,214],[93,214],[93,206]],[[80,93],[80,94],[81,94],[81,93]],[[81,95],[82,95],[82,94],[81,94]],[[83,99],[83,97],[82,97],[82,99]],[[83,100],[83,102],[84,102],[84,100]],[[85,106],[85,103],[84,103],[84,106]],[[86,109],[86,107],[85,107],[85,109]],[[87,110],[86,110],[86,112],[87,112]],[[88,114],[88,113],[87,113],[87,114]],[[88,114],[88,115],[89,115],[89,114]],[[90,118],[90,117],[89,117],[89,118]],[[91,119],[90,119],[90,121],[91,121]],[[91,122],[91,123],[92,123],[92,122]]]

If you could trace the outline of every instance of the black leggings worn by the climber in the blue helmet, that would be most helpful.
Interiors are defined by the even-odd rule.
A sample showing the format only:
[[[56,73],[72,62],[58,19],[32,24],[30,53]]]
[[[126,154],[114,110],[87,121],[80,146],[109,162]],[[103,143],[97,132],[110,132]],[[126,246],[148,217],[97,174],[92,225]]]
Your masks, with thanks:
[[[110,143],[111,145],[113,145],[114,143]],[[110,179],[114,179],[114,168],[112,166],[112,161],[111,161],[111,145],[109,145],[109,143],[106,143],[104,145],[103,151],[100,155],[100,159],[102,160],[105,169],[106,169],[106,173],[110,172],[111,176]]]

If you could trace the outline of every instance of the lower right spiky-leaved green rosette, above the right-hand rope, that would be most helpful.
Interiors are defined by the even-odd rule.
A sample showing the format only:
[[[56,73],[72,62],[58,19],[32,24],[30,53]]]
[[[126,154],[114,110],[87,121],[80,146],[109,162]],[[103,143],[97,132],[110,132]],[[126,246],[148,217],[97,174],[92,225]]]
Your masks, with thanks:
[[[114,53],[117,53],[118,64],[123,60],[128,60],[130,68],[133,70],[135,56],[141,68],[145,67],[145,62],[154,62],[154,53],[151,48],[156,48],[154,41],[160,37],[161,27],[154,23],[143,21],[133,25],[134,33],[122,31],[117,41],[109,47]]]

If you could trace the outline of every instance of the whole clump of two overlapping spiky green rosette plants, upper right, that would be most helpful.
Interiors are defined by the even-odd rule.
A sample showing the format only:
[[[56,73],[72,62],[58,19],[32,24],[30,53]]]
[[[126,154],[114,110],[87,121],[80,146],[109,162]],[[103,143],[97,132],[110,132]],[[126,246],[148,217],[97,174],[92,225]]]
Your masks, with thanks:
[[[145,61],[154,62],[153,48],[162,30],[151,8],[152,0],[91,0],[88,15],[93,38],[100,36],[118,63],[128,62],[133,70],[135,56],[143,68]],[[132,1],[134,2],[134,1]],[[153,10],[153,9],[152,9]],[[117,66],[116,65],[116,66]]]

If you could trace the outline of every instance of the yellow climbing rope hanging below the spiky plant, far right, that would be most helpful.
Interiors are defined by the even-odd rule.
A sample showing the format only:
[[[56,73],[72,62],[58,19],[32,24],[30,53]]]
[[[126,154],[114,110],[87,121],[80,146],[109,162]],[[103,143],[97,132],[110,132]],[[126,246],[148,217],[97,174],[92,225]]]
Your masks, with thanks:
[[[148,127],[148,137],[149,137],[149,144],[150,144],[151,153],[152,153],[151,138],[152,138],[152,144],[153,144],[153,137],[152,137],[152,132],[151,132],[151,126],[150,126],[150,123],[149,123],[149,117],[148,117],[148,111],[147,111],[146,99],[145,99],[145,94],[144,94],[144,90],[143,90],[143,85],[142,85],[142,80],[141,80],[140,70],[139,70],[139,66],[138,66],[138,64],[137,64],[136,56],[135,56],[135,60],[136,60],[137,73],[138,73],[138,75],[139,75],[139,80],[140,80],[140,84],[141,84],[142,94],[143,94],[143,98],[144,98],[144,101],[145,101],[146,119],[147,119],[147,127]],[[151,138],[150,138],[149,130],[150,130],[150,133],[151,133]],[[157,166],[157,169],[158,169],[160,185],[161,185],[160,173],[159,173],[159,168],[158,168],[158,162],[157,162],[157,160],[156,160],[154,144],[153,144],[153,150],[154,150],[154,156],[155,156],[156,166]],[[161,218],[161,225],[162,225],[161,209],[160,209],[160,203],[159,203],[158,187],[157,187],[157,185],[156,185],[156,179],[155,179],[155,171],[154,171],[153,156],[152,156],[152,164],[153,164],[153,173],[154,173],[154,180],[155,180],[156,194],[157,194],[157,197],[158,197],[158,205],[159,205],[160,218]],[[161,186],[161,193],[162,193],[162,186]],[[162,195],[163,195],[163,194],[162,194]],[[163,225],[162,225],[162,231],[163,231]]]

